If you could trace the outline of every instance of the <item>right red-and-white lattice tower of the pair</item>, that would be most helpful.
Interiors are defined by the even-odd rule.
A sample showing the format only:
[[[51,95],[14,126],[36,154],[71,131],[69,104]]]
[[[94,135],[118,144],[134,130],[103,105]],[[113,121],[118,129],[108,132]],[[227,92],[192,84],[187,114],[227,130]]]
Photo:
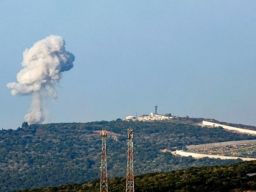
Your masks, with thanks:
[[[128,129],[128,155],[127,155],[127,174],[126,174],[126,192],[134,192],[133,175],[133,129]]]

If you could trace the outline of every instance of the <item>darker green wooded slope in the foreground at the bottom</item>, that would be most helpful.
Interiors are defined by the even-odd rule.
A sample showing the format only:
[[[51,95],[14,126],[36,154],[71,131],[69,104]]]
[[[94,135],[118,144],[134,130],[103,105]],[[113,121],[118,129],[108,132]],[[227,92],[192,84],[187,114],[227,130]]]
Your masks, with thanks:
[[[137,192],[228,192],[255,191],[256,161],[240,162],[225,166],[208,166],[204,168],[189,168],[168,173],[148,173],[134,178],[134,190]],[[126,178],[114,177],[108,182],[108,190],[112,192],[125,191]],[[96,192],[100,189],[100,181],[64,184],[57,187],[45,187],[18,192],[53,192],[78,191]]]

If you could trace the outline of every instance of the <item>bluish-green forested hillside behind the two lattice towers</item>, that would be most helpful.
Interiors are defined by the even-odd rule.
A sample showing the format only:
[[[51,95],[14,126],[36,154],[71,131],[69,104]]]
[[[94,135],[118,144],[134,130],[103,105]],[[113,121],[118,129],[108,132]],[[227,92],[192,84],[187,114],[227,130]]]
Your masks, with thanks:
[[[173,156],[184,145],[255,139],[255,136],[209,129],[195,123],[111,122],[51,123],[0,131],[0,191],[82,183],[98,179],[101,162],[99,131],[120,134],[106,138],[108,176],[126,175],[127,129],[134,129],[134,173],[169,172],[191,166],[213,166],[240,160]]]

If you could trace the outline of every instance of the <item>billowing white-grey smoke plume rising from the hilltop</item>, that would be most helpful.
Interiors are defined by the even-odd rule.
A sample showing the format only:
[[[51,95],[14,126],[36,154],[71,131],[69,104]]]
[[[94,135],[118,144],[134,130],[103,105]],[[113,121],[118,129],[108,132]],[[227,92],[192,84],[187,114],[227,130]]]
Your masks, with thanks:
[[[74,65],[75,56],[65,51],[63,37],[50,35],[23,52],[23,69],[17,74],[18,83],[8,83],[12,95],[32,95],[32,103],[25,120],[29,124],[46,123],[46,99],[57,98],[54,85],[63,72]]]

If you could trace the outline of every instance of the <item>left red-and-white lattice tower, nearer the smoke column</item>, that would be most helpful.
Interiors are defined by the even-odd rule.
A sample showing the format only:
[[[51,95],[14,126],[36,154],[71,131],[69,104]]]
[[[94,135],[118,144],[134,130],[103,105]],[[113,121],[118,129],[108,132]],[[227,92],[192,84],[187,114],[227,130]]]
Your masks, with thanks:
[[[106,130],[101,131],[101,191],[108,192],[108,172],[106,166]]]

